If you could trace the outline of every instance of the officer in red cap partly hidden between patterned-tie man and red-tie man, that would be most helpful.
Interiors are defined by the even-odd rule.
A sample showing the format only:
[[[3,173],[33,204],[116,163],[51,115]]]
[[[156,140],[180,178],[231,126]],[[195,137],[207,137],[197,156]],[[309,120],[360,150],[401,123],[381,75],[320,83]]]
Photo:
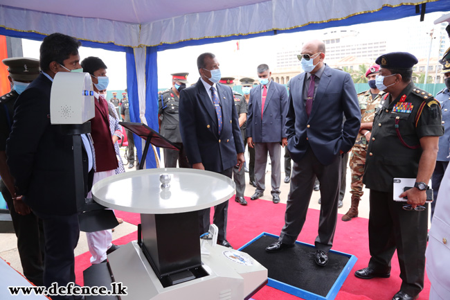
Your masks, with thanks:
[[[219,83],[222,83],[222,85],[228,85],[228,87],[233,87],[234,85],[234,77],[222,77],[219,80]],[[235,101],[235,107],[237,115],[239,116],[239,127],[241,130],[242,136],[245,136],[245,126],[247,120],[247,105],[244,99],[244,96],[239,94],[237,91],[233,90],[233,98]],[[235,196],[235,202],[247,205],[247,202],[244,198],[244,192],[245,192],[245,173],[244,168],[241,168],[239,170],[238,166],[235,166],[233,168],[233,180],[236,184],[236,196]]]

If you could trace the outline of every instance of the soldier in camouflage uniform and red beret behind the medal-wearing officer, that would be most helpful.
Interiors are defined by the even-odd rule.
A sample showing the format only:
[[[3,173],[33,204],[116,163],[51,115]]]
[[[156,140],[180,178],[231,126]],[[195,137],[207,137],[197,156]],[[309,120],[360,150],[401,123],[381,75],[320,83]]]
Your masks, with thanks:
[[[375,77],[379,73],[379,65],[375,64],[366,71],[370,89],[358,94],[359,107],[361,108],[361,129],[357,136],[357,140],[352,148],[350,155],[350,170],[352,171],[352,184],[350,193],[352,194],[352,206],[345,215],[342,216],[343,221],[350,221],[358,216],[359,200],[363,195],[363,175],[364,165],[366,164],[366,152],[368,147],[368,139],[372,130],[375,109],[377,109],[381,95],[384,91],[379,91],[375,85]]]

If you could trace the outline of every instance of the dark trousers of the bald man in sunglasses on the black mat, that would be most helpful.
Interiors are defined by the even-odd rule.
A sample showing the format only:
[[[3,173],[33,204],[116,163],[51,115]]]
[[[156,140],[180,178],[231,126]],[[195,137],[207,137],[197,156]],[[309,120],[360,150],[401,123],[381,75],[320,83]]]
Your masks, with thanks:
[[[321,188],[322,205],[318,236],[314,245],[318,250],[329,252],[336,230],[339,186],[341,185],[341,155],[336,155],[332,164],[324,166],[318,161],[311,148],[298,163],[294,162],[292,166],[285,227],[281,231],[280,241],[292,245],[298,238],[303,224],[305,224],[316,177],[323,188]]]

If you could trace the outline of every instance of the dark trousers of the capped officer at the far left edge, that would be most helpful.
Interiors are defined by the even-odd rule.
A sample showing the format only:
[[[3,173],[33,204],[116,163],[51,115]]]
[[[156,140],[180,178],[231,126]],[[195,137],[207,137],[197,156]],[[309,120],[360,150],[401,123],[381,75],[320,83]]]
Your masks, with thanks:
[[[26,279],[35,285],[44,285],[44,229],[33,211],[28,215],[19,215],[8,188],[0,179],[0,190],[10,211],[12,226],[17,236],[17,251]]]

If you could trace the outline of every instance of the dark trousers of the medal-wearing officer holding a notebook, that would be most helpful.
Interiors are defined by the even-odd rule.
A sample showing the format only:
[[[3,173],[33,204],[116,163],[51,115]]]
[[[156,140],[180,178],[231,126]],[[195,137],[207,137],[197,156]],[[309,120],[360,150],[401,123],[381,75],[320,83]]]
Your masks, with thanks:
[[[395,202],[393,193],[370,190],[369,267],[390,270],[397,249],[401,290],[414,297],[424,288],[428,204],[424,211],[405,211],[405,204]]]

